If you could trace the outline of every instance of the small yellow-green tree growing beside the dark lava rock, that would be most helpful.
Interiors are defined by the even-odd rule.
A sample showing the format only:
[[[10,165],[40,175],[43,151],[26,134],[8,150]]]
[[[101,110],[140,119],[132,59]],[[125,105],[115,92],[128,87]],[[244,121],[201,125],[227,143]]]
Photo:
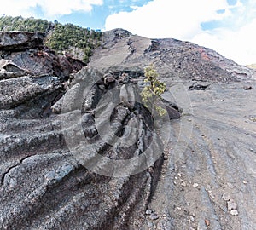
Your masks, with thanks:
[[[153,115],[154,111],[158,112],[160,117],[166,115],[166,110],[157,105],[157,101],[161,99],[161,95],[166,90],[166,83],[161,83],[157,78],[159,73],[155,70],[154,65],[144,68],[145,83],[148,85],[141,92],[143,103],[146,107],[151,109]]]

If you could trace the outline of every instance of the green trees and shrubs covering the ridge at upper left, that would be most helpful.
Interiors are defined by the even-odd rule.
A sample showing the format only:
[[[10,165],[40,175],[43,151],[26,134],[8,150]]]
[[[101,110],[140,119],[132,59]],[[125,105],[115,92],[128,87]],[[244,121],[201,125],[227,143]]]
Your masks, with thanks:
[[[47,37],[45,44],[57,52],[67,51],[87,63],[93,53],[93,49],[99,45],[102,32],[74,26],[73,24],[62,25],[58,21],[49,22],[34,18],[23,17],[0,17],[0,30],[45,32]],[[78,51],[73,52],[76,49]]]

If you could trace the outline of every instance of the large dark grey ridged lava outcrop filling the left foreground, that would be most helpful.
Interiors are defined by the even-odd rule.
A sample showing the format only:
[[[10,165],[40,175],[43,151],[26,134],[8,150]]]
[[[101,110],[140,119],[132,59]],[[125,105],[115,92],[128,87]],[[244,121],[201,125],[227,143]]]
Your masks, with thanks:
[[[139,229],[164,151],[159,124],[139,103],[143,74],[84,68],[67,82],[80,62],[47,51],[15,50],[1,60],[1,228]],[[165,105],[171,118],[180,116]]]

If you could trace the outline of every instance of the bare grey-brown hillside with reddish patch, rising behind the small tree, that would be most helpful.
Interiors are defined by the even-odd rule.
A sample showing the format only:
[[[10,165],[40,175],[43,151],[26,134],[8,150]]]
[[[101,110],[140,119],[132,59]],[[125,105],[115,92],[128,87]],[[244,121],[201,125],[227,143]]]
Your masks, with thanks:
[[[122,29],[104,32],[102,46],[91,57],[97,68],[137,66],[143,71],[154,63],[160,75],[171,79],[198,79],[227,82],[256,78],[247,66],[239,66],[212,49],[176,39],[149,39]]]

